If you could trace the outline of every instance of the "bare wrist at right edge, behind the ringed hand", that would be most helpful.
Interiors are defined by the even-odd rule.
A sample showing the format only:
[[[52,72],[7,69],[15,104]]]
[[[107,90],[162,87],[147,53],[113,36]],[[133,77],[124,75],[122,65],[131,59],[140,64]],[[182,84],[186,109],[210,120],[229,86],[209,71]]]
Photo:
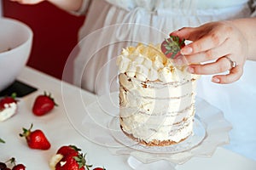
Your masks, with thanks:
[[[241,31],[241,33],[247,39],[247,59],[256,60],[256,17],[231,20],[231,22]]]

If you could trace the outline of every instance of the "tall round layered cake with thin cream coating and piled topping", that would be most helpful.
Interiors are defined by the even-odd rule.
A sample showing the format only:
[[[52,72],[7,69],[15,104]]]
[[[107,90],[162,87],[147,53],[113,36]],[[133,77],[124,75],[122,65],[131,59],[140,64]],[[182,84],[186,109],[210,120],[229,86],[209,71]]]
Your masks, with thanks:
[[[148,146],[177,144],[193,133],[196,75],[176,67],[160,45],[124,48],[119,66],[119,123]]]

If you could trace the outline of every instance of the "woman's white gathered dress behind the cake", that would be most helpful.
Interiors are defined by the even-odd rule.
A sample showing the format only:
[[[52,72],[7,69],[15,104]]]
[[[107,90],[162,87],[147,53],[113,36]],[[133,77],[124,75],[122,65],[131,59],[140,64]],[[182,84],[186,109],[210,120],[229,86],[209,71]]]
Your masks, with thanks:
[[[74,60],[74,83],[77,86],[96,94],[116,90],[118,72],[115,57],[122,48],[137,42],[161,42],[169,32],[183,26],[200,26],[208,21],[249,17],[252,14],[244,0],[234,1],[230,6],[223,3],[218,8],[210,8],[210,3],[200,6],[199,0],[131,2],[136,3],[127,3],[125,0],[90,2],[84,26],[79,32],[80,39],[83,39],[79,43],[80,52]],[[255,8],[255,0],[253,2]],[[88,1],[84,3],[88,5]],[[256,83],[251,74],[255,72],[256,63],[252,63],[245,65],[243,78],[230,85],[214,84],[210,77],[202,77],[198,85],[198,95],[223,109],[224,115],[233,124],[231,144],[227,147],[256,160],[256,137],[253,132],[256,129],[256,92],[252,87]],[[240,99],[240,94],[244,93],[248,97]]]

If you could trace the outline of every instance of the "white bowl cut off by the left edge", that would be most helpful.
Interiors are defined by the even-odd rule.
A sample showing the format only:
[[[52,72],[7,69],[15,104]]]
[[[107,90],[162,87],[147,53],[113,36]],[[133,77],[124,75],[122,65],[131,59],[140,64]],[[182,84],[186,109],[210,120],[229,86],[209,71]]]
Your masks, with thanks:
[[[31,28],[24,23],[0,18],[0,91],[14,82],[26,65],[32,36]]]

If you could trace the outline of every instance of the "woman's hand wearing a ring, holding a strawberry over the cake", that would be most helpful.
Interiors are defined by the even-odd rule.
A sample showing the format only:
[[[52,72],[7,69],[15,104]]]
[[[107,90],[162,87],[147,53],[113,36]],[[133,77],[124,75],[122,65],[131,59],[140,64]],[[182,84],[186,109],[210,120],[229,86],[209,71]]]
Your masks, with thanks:
[[[248,45],[243,33],[231,21],[211,22],[199,27],[184,27],[171,33],[173,36],[192,41],[182,48],[188,71],[193,74],[211,75],[229,71],[227,75],[215,75],[212,82],[237,81],[247,59]]]

